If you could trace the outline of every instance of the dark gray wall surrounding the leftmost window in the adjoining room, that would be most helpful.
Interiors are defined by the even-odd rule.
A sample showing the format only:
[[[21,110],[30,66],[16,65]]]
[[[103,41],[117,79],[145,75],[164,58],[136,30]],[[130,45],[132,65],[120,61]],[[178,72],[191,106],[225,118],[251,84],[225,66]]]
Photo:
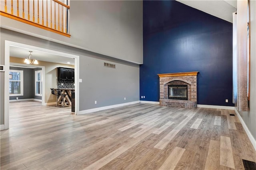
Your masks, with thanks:
[[[19,99],[33,99],[35,84],[34,84],[34,70],[21,67],[10,67],[12,70],[23,70],[23,96],[10,96],[10,100],[15,100],[16,97]]]

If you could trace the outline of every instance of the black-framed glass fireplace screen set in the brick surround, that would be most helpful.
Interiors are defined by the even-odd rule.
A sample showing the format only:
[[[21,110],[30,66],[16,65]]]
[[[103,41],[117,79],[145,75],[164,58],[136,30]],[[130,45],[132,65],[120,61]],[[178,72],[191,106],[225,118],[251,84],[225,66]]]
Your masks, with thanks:
[[[168,85],[168,99],[188,100],[188,85]]]

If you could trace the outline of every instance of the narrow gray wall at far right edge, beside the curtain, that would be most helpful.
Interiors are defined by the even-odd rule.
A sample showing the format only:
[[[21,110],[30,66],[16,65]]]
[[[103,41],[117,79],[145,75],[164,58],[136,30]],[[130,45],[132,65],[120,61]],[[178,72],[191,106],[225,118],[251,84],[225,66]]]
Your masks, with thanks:
[[[251,71],[250,71],[250,111],[239,112],[244,123],[256,140],[256,1],[250,1],[250,30],[251,30]]]

